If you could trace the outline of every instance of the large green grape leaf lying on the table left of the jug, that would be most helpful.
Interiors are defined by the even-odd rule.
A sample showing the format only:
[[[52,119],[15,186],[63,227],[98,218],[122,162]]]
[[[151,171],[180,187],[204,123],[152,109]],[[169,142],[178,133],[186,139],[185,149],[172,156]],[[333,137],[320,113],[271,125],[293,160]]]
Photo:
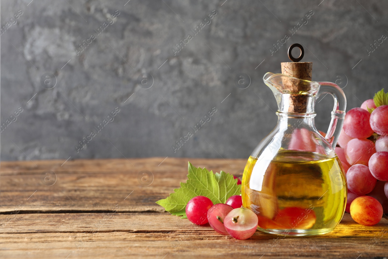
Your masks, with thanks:
[[[156,203],[175,216],[186,217],[186,205],[195,196],[206,196],[214,204],[225,203],[233,195],[241,194],[241,185],[237,185],[237,179],[223,171],[213,174],[206,168],[194,167],[189,162],[186,183],[180,183],[180,188],[174,189],[165,199]]]

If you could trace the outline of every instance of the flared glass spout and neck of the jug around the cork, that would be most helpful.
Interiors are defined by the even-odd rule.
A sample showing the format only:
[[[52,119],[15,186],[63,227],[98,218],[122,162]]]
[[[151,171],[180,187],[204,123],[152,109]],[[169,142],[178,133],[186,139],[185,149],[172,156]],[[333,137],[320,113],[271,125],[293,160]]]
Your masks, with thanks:
[[[319,82],[269,72],[263,81],[274,93],[279,112],[314,113]]]

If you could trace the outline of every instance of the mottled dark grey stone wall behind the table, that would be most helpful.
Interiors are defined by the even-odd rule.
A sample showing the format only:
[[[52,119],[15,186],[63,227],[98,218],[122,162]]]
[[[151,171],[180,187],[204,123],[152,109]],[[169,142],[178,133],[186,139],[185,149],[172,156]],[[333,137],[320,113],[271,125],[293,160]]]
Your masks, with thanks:
[[[370,46],[388,35],[382,0],[6,0],[1,7],[1,123],[23,109],[1,132],[2,160],[247,158],[277,120],[262,77],[280,73],[292,43],[305,45],[313,80],[345,87],[348,109],[388,79],[387,40]],[[189,43],[177,52],[181,40]],[[152,87],[138,83],[142,73]],[[236,86],[238,73],[249,75],[248,88]],[[317,103],[318,129],[326,131],[332,108],[329,96]],[[79,149],[84,137],[92,140]]]

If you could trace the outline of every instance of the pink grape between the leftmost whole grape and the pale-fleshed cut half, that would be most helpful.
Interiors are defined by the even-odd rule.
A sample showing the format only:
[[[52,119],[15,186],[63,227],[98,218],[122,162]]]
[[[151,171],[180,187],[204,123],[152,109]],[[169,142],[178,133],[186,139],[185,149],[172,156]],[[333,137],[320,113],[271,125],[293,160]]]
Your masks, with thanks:
[[[224,203],[217,203],[208,210],[208,220],[211,228],[222,235],[229,235],[223,226],[223,220],[233,208]]]

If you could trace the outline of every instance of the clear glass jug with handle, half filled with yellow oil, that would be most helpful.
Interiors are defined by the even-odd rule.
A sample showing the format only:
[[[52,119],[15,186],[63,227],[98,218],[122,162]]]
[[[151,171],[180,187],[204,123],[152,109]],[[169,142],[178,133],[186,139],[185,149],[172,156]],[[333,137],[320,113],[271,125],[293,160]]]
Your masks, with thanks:
[[[263,80],[275,95],[279,118],[249,156],[242,203],[257,214],[263,232],[328,233],[341,221],[346,205],[345,173],[334,151],[345,117],[345,94],[334,83],[283,74],[266,73]],[[289,85],[302,87],[293,90]],[[326,137],[314,125],[315,100],[322,94],[334,98]]]

